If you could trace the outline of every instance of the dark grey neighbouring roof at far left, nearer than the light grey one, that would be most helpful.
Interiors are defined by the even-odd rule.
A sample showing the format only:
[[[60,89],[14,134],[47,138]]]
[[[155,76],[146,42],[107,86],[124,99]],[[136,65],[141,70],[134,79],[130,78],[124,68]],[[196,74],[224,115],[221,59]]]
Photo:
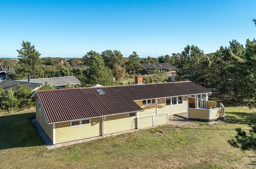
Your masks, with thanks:
[[[7,91],[11,87],[14,89],[14,91],[17,91],[17,86],[23,85],[32,89],[35,89],[37,87],[40,87],[42,84],[40,83],[29,83],[29,82],[23,82],[23,81],[15,81],[15,80],[4,80],[0,82],[0,86]]]

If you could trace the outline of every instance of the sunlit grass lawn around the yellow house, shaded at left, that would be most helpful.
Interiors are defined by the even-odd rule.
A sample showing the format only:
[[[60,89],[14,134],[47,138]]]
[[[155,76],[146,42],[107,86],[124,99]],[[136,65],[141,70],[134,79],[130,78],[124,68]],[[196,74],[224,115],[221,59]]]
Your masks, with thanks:
[[[227,107],[227,122],[165,125],[54,150],[46,149],[30,122],[33,111],[0,114],[0,168],[255,167],[255,159],[227,143],[235,128],[249,129],[245,122],[251,111],[246,107]]]

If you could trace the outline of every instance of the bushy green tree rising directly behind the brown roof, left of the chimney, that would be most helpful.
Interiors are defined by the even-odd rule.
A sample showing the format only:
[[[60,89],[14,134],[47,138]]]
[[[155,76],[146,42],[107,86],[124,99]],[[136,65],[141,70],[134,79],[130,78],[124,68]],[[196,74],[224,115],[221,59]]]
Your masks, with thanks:
[[[86,54],[90,63],[90,67],[83,70],[83,76],[81,78],[83,86],[93,86],[100,84],[103,86],[113,85],[112,71],[104,65],[102,56],[94,51],[90,51]]]

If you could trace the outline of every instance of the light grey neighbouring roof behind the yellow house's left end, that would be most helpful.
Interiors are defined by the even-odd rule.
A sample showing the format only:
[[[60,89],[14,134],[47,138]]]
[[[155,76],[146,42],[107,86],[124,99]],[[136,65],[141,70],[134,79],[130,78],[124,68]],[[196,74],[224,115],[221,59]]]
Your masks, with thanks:
[[[19,81],[28,81],[28,80],[25,79],[25,80],[19,80]],[[48,82],[49,85],[52,85],[52,86],[65,86],[67,85],[67,83],[69,83],[70,85],[80,83],[80,80],[78,80],[74,76],[30,79],[30,82],[34,82],[34,83],[45,83],[46,81]]]

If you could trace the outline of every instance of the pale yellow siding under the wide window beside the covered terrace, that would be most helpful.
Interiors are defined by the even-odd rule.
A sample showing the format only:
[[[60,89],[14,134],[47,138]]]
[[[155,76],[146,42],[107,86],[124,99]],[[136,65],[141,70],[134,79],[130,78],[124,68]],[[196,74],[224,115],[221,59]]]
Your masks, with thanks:
[[[168,105],[164,108],[158,108],[157,114],[169,113],[173,115],[176,113],[184,113],[188,110],[188,101],[183,101],[183,104]]]

